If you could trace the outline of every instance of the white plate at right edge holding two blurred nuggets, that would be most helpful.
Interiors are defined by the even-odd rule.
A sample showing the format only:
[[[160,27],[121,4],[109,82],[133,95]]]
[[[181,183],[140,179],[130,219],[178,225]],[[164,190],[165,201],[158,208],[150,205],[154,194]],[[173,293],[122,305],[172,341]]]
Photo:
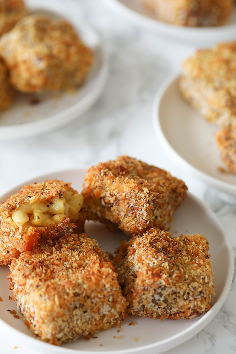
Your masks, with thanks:
[[[236,195],[236,176],[219,170],[224,165],[215,141],[217,126],[208,123],[182,98],[178,82],[179,75],[171,76],[156,94],[153,123],[157,137],[187,173],[211,187]]]

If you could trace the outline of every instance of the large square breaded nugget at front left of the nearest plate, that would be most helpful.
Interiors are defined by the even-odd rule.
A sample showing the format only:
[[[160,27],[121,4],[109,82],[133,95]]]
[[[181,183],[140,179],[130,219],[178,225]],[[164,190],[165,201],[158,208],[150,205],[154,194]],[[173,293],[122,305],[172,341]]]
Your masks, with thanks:
[[[111,262],[85,234],[64,235],[24,252],[12,261],[8,280],[25,324],[48,343],[109,329],[126,314]]]

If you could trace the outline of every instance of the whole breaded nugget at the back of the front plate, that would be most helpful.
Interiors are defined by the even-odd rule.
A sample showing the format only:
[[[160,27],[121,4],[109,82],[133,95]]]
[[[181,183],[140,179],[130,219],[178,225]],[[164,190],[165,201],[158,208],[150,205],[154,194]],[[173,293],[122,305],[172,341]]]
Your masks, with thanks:
[[[127,235],[142,235],[151,227],[168,229],[186,190],[169,172],[120,156],[87,171],[82,195],[89,220],[108,220]]]

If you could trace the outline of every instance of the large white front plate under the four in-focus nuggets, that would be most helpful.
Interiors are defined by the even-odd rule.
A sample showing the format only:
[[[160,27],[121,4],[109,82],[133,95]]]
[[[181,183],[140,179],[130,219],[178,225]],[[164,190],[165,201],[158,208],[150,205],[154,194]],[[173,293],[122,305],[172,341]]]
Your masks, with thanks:
[[[79,192],[82,188],[83,177],[86,169],[76,169],[50,173],[45,176],[34,178],[25,183],[41,182],[46,178],[58,178],[72,182],[72,186]],[[18,186],[0,197],[0,203],[12,194],[18,192]],[[205,315],[192,320],[153,320],[132,316],[127,318],[121,326],[120,332],[117,328],[102,331],[96,334],[97,338],[86,341],[77,341],[56,347],[51,344],[35,339],[23,322],[15,319],[7,309],[16,309],[15,303],[8,300],[11,292],[8,290],[6,274],[7,266],[0,267],[0,295],[3,299],[0,302],[0,330],[12,331],[14,339],[21,337],[25,345],[41,351],[44,354],[128,354],[128,353],[149,353],[158,354],[171,349],[185,342],[203,327],[205,327],[217,314],[223,305],[230,289],[234,259],[232,248],[228,237],[220,225],[214,213],[203,202],[188,194],[186,201],[175,213],[171,223],[171,232],[174,235],[181,233],[202,233],[209,241],[212,267],[214,271],[215,296],[212,301],[212,308]],[[86,233],[98,240],[103,251],[114,252],[120,245],[120,239],[127,239],[122,232],[108,232],[100,223],[87,222]],[[224,262],[219,262],[224,259]],[[136,326],[129,325],[133,321]],[[122,336],[122,339],[114,338]],[[137,338],[136,342],[134,338]],[[102,344],[102,347],[100,346]]]

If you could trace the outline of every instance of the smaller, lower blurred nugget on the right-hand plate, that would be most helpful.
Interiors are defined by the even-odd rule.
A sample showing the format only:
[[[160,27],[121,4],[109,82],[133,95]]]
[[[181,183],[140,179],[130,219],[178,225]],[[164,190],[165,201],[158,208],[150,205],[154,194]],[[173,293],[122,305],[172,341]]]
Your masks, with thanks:
[[[220,158],[230,173],[236,173],[236,121],[216,134]]]

